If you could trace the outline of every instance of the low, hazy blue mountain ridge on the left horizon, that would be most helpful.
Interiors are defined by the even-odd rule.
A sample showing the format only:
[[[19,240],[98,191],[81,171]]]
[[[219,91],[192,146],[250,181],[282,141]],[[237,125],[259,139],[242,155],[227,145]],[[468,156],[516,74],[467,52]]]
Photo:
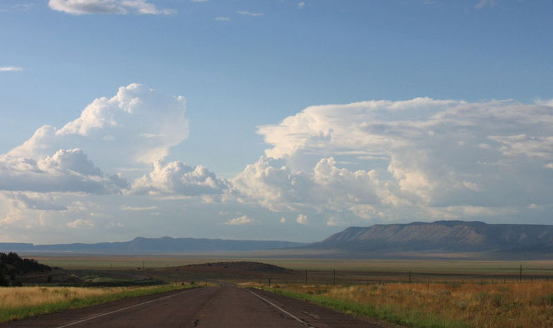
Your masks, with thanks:
[[[196,251],[261,251],[283,247],[301,247],[306,243],[270,240],[224,240],[207,238],[143,238],[128,242],[97,244],[50,244],[0,242],[0,251],[71,251],[82,253],[185,253]]]

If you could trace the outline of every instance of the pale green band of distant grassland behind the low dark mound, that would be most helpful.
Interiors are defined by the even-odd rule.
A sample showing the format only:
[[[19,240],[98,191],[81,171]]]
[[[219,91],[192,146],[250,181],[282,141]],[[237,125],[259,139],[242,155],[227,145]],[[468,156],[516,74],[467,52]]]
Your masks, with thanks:
[[[359,271],[366,273],[436,273],[449,275],[518,275],[553,277],[553,260],[388,260],[341,258],[271,258],[265,253],[185,253],[160,255],[32,255],[41,263],[63,269],[158,269],[223,261],[259,261],[294,270]],[[268,253],[269,254],[269,253]]]

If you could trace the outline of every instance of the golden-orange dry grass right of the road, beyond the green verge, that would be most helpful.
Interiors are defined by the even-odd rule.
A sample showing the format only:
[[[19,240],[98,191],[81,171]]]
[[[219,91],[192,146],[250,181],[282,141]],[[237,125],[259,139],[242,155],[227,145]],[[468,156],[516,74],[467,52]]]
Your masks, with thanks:
[[[469,327],[553,327],[553,283],[390,283],[348,287],[288,285],[290,291],[428,314]]]

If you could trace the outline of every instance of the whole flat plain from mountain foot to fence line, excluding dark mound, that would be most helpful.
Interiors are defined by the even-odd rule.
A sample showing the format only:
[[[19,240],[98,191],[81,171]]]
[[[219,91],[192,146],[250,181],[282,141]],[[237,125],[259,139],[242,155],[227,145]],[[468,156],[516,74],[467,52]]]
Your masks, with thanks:
[[[197,254],[195,254],[197,256]],[[317,259],[317,258],[240,258],[224,257],[215,254],[212,257],[188,257],[187,255],[98,255],[98,256],[41,256],[33,258],[51,267],[61,267],[66,270],[93,269],[102,271],[125,271],[136,275],[138,271],[144,276],[160,276],[163,269],[170,276],[185,280],[200,280],[203,278],[203,269],[186,267],[192,264],[207,262],[229,261],[261,261],[279,267],[292,269],[284,276],[278,274],[273,279],[281,282],[301,282],[305,271],[308,271],[308,280],[319,283],[328,283],[336,277],[341,282],[375,282],[375,281],[409,281],[411,271],[412,282],[427,281],[514,281],[520,278],[520,268],[523,268],[523,280],[550,280],[553,279],[553,260],[532,261],[491,261],[491,260],[362,260],[362,259]],[[175,267],[180,267],[175,271]],[[178,274],[176,274],[178,273]],[[225,276],[225,271],[209,274],[209,278],[238,278],[250,279],[251,275],[242,277],[239,273],[235,277]],[[158,277],[159,278],[159,277]],[[180,280],[180,279],[179,279]],[[174,280],[174,281],[179,281]]]

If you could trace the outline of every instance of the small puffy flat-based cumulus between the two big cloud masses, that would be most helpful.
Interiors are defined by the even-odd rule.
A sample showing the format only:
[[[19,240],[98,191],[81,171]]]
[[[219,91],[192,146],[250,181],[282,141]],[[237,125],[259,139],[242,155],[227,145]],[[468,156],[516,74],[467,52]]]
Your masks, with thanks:
[[[153,171],[133,183],[129,193],[216,195],[229,189],[225,180],[218,179],[205,166],[188,166],[182,162],[156,161]]]

